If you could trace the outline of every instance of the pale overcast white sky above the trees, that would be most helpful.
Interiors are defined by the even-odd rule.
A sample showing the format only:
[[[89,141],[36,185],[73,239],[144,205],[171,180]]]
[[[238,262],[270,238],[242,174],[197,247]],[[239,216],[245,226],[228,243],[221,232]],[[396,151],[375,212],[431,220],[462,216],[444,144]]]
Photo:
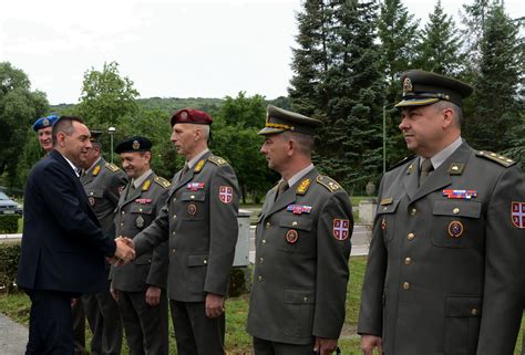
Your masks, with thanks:
[[[437,0],[435,0],[437,1]],[[433,0],[403,0],[424,23]],[[456,18],[462,3],[442,0]],[[505,0],[513,18],[523,0]],[[141,97],[287,95],[300,0],[18,0],[2,3],[0,62],[51,104],[78,103],[83,75],[117,62]]]

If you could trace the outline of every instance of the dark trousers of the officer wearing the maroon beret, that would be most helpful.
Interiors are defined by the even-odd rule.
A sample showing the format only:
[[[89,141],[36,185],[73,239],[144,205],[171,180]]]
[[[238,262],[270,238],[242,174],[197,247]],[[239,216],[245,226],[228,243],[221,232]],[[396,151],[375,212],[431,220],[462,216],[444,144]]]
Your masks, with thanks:
[[[204,302],[169,300],[178,355],[223,355],[225,314],[206,316]]]

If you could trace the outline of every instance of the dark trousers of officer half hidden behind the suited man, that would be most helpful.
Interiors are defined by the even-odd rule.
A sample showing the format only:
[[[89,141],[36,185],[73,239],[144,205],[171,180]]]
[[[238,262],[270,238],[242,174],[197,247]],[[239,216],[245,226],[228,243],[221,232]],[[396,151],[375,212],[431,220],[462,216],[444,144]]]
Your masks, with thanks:
[[[91,355],[119,355],[122,347],[122,321],[119,304],[107,290],[82,296],[85,317],[90,324]]]

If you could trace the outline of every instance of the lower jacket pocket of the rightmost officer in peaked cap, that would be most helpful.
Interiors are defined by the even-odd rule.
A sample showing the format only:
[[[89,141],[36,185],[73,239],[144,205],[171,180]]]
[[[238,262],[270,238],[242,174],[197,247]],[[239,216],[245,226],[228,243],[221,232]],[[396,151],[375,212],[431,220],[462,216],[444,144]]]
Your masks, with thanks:
[[[445,355],[475,354],[482,306],[482,296],[447,296],[445,299]]]

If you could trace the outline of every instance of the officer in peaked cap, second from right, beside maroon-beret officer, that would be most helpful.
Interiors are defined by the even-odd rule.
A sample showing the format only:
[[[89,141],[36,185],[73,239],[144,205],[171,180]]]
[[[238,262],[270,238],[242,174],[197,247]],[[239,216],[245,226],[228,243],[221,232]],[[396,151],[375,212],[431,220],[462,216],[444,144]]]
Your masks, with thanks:
[[[321,122],[268,106],[260,152],[281,180],[257,222],[247,331],[256,355],[330,354],[344,321],[350,199],[311,163]]]

